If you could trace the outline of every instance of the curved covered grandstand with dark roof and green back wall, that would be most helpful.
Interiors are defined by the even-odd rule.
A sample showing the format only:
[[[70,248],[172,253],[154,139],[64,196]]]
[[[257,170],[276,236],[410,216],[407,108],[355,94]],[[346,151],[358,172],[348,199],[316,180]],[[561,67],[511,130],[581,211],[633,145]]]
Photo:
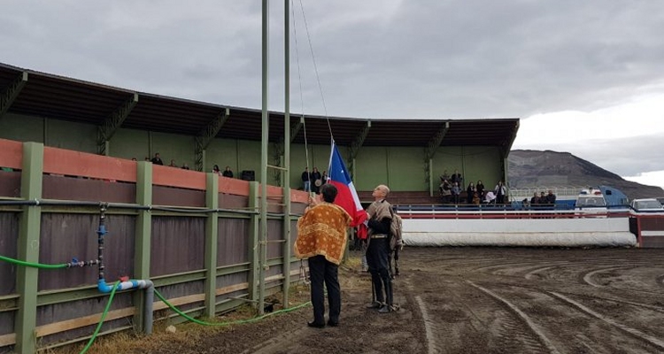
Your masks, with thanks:
[[[174,159],[197,171],[228,165],[236,177],[249,171],[260,181],[260,110],[120,89],[6,64],[0,64],[0,92],[0,138],[138,160],[159,152],[166,164]],[[300,188],[305,165],[327,169],[334,137],[360,192],[385,183],[394,196],[428,192],[422,198],[431,198],[445,170],[459,170],[465,183],[483,180],[493,186],[505,181],[507,155],[518,128],[519,119],[514,118],[369,119],[295,113],[284,127],[284,112],[269,112],[269,163],[283,165],[283,146],[290,143],[289,185]],[[290,142],[283,142],[284,129],[290,129]],[[284,184],[279,173],[267,181]]]

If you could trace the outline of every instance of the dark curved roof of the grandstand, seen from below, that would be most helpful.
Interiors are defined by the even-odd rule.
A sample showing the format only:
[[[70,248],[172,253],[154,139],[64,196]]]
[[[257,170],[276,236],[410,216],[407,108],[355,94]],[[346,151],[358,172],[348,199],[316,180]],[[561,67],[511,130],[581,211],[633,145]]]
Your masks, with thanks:
[[[26,81],[27,79],[27,81]],[[22,81],[22,82],[21,82]],[[21,83],[19,90],[14,90]],[[18,92],[12,100],[8,95]],[[227,108],[228,120],[216,135],[220,138],[260,140],[261,112],[224,104],[210,104],[182,98],[159,96],[131,89],[119,89],[50,73],[41,73],[0,63],[0,113],[49,117],[68,121],[104,124],[120,106],[138,95],[138,103],[121,127],[183,135],[198,135]],[[8,107],[6,107],[8,105]],[[270,112],[269,141],[283,138],[283,112]],[[290,128],[300,121],[290,114]],[[490,145],[509,149],[519,127],[519,119],[362,119],[328,117],[336,143],[350,146],[368,127],[362,146],[440,146]],[[296,130],[292,142],[327,144],[330,136],[326,117],[305,116],[306,129]]]

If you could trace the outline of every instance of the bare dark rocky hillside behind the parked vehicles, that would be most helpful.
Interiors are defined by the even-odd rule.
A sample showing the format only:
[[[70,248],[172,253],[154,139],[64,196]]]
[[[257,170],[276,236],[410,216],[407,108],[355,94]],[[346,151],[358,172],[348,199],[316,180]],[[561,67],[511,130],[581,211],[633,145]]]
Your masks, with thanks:
[[[564,186],[611,186],[629,199],[664,196],[664,189],[626,181],[569,152],[512,150],[508,158],[511,188],[553,188]]]

